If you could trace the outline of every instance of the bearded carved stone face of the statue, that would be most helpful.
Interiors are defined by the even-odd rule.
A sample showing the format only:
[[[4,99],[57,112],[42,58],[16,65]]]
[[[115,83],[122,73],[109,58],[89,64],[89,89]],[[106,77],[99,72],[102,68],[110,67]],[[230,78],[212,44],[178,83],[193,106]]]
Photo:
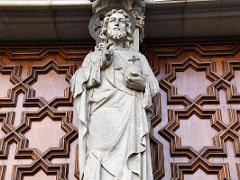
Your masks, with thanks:
[[[126,37],[127,27],[126,19],[121,13],[114,13],[109,17],[107,26],[107,36],[114,40],[119,40]]]

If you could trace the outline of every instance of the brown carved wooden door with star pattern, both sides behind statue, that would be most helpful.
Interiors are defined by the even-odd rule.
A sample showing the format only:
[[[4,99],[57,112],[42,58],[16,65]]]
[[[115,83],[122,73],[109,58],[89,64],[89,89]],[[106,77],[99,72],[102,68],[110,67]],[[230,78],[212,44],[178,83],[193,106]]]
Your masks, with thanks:
[[[0,180],[77,180],[69,80],[92,47],[0,47]],[[238,42],[146,45],[155,180],[240,179]]]

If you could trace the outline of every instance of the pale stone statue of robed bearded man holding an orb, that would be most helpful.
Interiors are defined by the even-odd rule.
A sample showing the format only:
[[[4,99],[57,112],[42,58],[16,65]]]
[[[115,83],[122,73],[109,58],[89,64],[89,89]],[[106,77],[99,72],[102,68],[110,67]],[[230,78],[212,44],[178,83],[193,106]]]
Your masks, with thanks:
[[[152,180],[149,115],[159,92],[144,55],[130,50],[124,10],[105,15],[101,42],[71,80],[81,180]]]

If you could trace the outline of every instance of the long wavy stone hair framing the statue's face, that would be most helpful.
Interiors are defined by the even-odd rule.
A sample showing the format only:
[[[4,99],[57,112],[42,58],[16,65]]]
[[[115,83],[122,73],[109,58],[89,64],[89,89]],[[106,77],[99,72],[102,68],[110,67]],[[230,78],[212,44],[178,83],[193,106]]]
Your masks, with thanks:
[[[126,20],[125,23],[126,23],[126,28],[127,29],[126,29],[126,39],[125,39],[125,42],[124,42],[124,47],[129,48],[133,44],[133,32],[132,32],[132,29],[131,29],[131,22],[130,22],[129,15],[122,9],[120,9],[120,10],[112,9],[111,11],[106,13],[106,15],[104,17],[101,32],[100,32],[100,35],[99,35],[100,42],[96,45],[96,49],[102,49],[108,43],[107,26],[108,26],[110,16],[113,15],[114,13],[122,14],[125,17],[125,20]]]

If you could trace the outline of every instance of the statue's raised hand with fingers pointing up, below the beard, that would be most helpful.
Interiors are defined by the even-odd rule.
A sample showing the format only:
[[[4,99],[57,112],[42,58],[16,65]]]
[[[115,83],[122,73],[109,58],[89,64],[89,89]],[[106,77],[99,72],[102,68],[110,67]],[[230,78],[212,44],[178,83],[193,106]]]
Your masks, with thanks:
[[[101,70],[108,68],[112,64],[113,50],[110,49],[112,45],[113,43],[107,43],[102,49],[100,64]]]

